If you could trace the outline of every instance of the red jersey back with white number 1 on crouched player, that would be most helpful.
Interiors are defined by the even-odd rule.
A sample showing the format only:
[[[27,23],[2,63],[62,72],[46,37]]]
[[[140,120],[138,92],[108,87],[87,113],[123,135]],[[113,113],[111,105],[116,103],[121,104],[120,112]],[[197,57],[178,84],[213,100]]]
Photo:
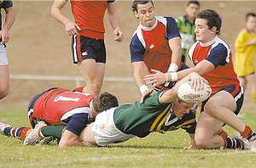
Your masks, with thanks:
[[[66,125],[68,117],[78,113],[91,113],[90,102],[94,98],[82,92],[70,92],[57,88],[44,93],[33,107],[32,117],[51,125]]]

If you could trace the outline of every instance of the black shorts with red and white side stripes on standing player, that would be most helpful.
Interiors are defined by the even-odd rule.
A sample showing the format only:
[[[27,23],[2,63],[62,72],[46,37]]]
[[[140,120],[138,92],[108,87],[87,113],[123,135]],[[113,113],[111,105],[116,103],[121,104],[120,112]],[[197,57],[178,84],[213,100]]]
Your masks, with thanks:
[[[106,63],[106,48],[103,39],[87,36],[73,36],[72,38],[73,63],[84,59],[95,59],[96,63]]]

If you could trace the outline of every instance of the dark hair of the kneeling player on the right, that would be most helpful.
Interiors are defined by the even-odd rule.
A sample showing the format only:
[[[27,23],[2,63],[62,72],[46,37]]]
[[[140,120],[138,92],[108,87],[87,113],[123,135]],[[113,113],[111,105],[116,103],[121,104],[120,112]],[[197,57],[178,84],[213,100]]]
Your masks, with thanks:
[[[196,19],[207,20],[207,25],[209,26],[209,29],[212,29],[212,27],[215,26],[217,28],[216,34],[219,35],[222,20],[215,10],[202,10],[196,15]]]

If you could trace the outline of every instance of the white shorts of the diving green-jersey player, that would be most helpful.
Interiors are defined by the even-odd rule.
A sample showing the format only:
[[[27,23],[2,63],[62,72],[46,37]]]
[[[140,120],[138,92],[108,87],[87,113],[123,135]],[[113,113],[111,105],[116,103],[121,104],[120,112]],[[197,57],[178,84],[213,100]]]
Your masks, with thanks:
[[[119,129],[113,123],[113,111],[115,108],[103,111],[96,116],[96,120],[92,126],[92,132],[94,134],[97,145],[107,146],[111,143],[122,143],[135,137],[133,135],[127,135],[120,132]]]

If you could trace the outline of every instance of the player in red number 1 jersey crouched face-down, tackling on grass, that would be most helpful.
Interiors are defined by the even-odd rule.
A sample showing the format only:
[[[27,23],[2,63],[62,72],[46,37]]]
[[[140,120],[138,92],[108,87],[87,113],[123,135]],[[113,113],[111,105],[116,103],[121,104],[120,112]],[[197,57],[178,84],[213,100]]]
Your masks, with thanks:
[[[82,89],[80,89],[82,90]],[[0,122],[0,132],[12,137],[20,137],[24,144],[36,144],[44,134],[35,134],[42,127],[52,126],[53,132],[61,131],[60,146],[81,146],[80,133],[96,115],[103,110],[117,107],[118,100],[108,92],[93,96],[79,90],[69,91],[64,88],[50,88],[32,98],[28,105],[30,127],[11,127]],[[56,127],[55,127],[56,126]],[[65,130],[61,129],[65,126]]]

